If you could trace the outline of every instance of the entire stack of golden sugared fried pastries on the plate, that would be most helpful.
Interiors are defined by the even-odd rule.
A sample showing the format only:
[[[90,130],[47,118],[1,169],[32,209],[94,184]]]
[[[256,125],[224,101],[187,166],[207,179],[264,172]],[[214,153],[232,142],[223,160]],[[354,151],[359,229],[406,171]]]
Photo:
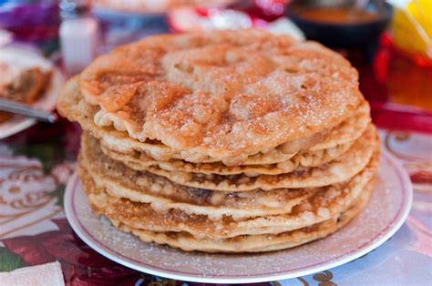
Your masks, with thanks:
[[[371,196],[379,143],[357,77],[289,36],[154,36],[98,57],[57,108],[84,129],[83,189],[118,230],[282,250],[340,229]]]

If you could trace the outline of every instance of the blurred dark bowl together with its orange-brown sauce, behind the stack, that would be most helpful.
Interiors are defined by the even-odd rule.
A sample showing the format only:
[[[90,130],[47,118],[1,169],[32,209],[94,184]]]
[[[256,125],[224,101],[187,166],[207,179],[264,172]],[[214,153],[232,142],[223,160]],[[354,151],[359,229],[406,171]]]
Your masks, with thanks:
[[[380,0],[293,0],[286,15],[308,39],[333,48],[363,50],[370,60],[392,7]]]

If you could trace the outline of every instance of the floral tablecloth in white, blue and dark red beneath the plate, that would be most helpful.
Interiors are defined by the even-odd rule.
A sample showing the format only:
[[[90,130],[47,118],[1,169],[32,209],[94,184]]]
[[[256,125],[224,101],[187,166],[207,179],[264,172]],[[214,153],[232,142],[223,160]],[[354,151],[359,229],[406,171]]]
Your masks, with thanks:
[[[58,260],[70,285],[188,284],[118,265],[88,248],[71,230],[63,196],[75,168],[79,134],[77,125],[60,121],[54,126],[38,124],[0,141],[0,271]],[[269,284],[430,285],[432,136],[381,130],[381,138],[383,147],[403,162],[414,183],[413,209],[403,227],[358,260]]]

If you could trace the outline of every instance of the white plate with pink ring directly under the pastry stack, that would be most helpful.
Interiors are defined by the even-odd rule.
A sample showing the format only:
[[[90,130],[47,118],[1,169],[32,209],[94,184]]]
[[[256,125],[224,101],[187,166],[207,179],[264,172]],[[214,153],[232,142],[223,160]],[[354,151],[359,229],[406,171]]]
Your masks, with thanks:
[[[355,260],[395,234],[406,220],[411,201],[412,186],[405,170],[383,150],[375,191],[366,209],[334,235],[292,250],[225,255],[144,243],[92,214],[76,174],[67,185],[65,210],[82,240],[129,268],[182,281],[246,283],[303,276]]]

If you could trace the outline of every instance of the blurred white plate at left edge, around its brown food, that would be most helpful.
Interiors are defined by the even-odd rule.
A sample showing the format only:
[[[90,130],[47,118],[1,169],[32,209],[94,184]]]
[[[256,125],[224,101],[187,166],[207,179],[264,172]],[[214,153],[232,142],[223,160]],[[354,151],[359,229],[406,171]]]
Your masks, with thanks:
[[[40,56],[31,49],[21,46],[6,46],[0,49],[0,60],[5,59],[12,61],[19,66],[38,66],[43,70],[51,69],[53,71],[50,86],[47,88],[46,93],[42,95],[32,107],[53,111],[56,108],[58,91],[63,85],[64,77],[62,74],[52,66],[51,62],[45,57]],[[33,126],[36,123],[35,119],[14,116],[7,121],[0,123],[0,139],[9,137],[18,133],[26,128]]]

